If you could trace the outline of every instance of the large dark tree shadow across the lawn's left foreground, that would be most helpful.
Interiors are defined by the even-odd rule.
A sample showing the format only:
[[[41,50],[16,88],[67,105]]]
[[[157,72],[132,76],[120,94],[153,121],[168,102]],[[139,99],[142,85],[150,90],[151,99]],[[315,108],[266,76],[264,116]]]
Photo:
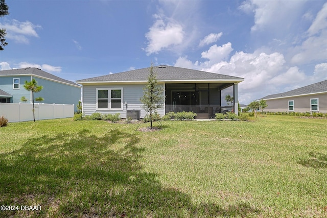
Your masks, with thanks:
[[[96,136],[42,135],[0,155],[0,205],[40,205],[39,211],[0,211],[17,217],[203,217],[246,216],[248,204],[194,204],[142,171],[137,134],[111,130]]]

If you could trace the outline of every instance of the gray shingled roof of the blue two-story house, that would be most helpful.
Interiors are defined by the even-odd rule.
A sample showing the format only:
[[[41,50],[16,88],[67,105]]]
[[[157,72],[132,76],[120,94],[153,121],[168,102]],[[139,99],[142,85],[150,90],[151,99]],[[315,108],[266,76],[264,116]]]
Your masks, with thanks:
[[[20,69],[8,69],[8,70],[0,70],[0,76],[15,76],[15,75],[34,75],[38,77],[43,77],[50,80],[55,80],[62,83],[71,84],[74,86],[80,86],[72,81],[62,79],[55,75],[49,74],[49,72],[45,72],[36,67],[26,67]]]

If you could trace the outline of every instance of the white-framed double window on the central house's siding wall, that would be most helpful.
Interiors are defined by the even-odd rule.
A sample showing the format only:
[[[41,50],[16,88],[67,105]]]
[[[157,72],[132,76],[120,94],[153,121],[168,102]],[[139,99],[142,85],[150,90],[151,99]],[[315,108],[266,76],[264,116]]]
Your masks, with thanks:
[[[123,109],[123,88],[97,89],[97,109]]]

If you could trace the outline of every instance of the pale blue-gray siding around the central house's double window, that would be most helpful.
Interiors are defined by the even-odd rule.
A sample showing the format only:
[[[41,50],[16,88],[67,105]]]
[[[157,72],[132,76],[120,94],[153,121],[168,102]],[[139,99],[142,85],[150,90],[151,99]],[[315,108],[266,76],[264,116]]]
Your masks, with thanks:
[[[122,118],[126,118],[127,110],[140,110],[140,116],[143,118],[147,112],[141,107],[142,103],[139,99],[143,96],[144,86],[145,84],[83,85],[83,112],[85,115],[95,112],[102,114],[120,113]],[[97,88],[123,88],[123,110],[97,110]],[[164,115],[164,109],[159,109],[158,113],[161,116]]]

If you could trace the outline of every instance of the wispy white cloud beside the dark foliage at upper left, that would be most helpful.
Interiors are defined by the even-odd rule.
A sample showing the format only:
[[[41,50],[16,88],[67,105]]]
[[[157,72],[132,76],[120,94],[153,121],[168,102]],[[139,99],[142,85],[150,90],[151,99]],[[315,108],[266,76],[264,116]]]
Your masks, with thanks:
[[[6,38],[25,44],[29,43],[29,37],[39,37],[36,29],[41,28],[30,21],[20,22],[15,19],[8,23],[0,23],[0,27],[6,29]]]

